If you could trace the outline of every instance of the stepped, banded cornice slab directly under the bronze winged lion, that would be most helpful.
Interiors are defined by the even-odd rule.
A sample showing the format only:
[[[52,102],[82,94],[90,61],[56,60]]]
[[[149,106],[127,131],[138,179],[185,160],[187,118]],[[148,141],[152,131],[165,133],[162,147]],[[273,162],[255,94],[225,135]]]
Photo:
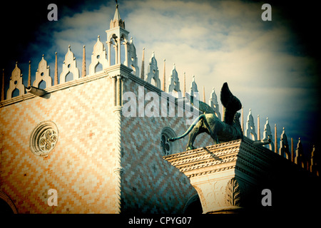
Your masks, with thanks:
[[[266,175],[273,161],[282,159],[263,146],[253,145],[253,141],[246,137],[163,158],[187,177],[236,169],[255,178]]]

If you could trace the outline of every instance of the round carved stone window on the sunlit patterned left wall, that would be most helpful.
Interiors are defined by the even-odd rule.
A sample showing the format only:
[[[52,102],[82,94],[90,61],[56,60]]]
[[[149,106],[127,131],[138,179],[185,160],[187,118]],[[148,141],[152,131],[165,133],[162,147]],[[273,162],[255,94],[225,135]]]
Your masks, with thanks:
[[[48,156],[58,141],[58,129],[54,122],[44,121],[31,132],[29,147],[38,156]]]

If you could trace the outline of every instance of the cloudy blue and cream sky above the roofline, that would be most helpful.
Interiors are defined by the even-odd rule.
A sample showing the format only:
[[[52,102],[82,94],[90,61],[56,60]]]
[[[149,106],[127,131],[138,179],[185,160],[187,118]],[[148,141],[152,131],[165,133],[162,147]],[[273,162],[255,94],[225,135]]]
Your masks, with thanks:
[[[1,16],[2,27],[8,31],[6,42],[1,43],[6,82],[14,63],[19,61],[26,83],[29,60],[35,76],[42,54],[53,77],[55,52],[60,74],[69,44],[80,71],[82,47],[86,45],[88,69],[97,36],[105,43],[115,1],[56,2],[58,21],[46,19],[49,1],[36,6],[30,1],[21,3],[16,6],[16,14]],[[264,3],[272,6],[272,21],[261,19]],[[314,46],[318,43],[316,38],[310,39],[313,33],[308,29],[315,6],[281,5],[275,1],[183,0],[120,0],[118,4],[136,46],[138,66],[141,67],[143,48],[146,62],[154,51],[160,76],[165,58],[166,76],[170,76],[175,63],[181,87],[183,72],[188,88],[195,75],[200,93],[205,86],[206,100],[212,88],[219,98],[221,86],[228,82],[243,103],[245,122],[250,108],[255,126],[260,115],[261,137],[268,117],[272,129],[277,124],[278,137],[285,127],[289,143],[294,138],[296,145],[299,137],[306,147],[316,143],[320,127],[320,58],[316,50],[320,46]]]

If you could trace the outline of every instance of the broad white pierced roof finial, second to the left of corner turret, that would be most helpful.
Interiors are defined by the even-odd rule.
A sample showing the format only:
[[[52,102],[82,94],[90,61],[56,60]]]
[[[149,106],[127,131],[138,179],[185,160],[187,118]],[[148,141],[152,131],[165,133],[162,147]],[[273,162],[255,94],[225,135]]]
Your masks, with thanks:
[[[66,82],[66,76],[68,73],[73,74],[73,80],[79,78],[79,70],[77,68],[76,58],[73,56],[70,45],[68,46],[65,61],[63,61],[63,69],[60,74],[60,83]]]

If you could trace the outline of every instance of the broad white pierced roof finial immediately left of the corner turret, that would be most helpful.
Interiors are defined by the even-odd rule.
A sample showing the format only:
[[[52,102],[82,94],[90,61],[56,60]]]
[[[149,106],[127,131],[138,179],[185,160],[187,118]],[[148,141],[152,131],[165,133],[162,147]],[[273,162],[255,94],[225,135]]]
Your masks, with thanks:
[[[97,42],[93,46],[93,54],[91,55],[91,64],[89,65],[89,74],[96,73],[96,67],[101,63],[103,69],[108,67],[108,61],[106,57],[106,49],[101,42],[100,36],[97,37]]]

